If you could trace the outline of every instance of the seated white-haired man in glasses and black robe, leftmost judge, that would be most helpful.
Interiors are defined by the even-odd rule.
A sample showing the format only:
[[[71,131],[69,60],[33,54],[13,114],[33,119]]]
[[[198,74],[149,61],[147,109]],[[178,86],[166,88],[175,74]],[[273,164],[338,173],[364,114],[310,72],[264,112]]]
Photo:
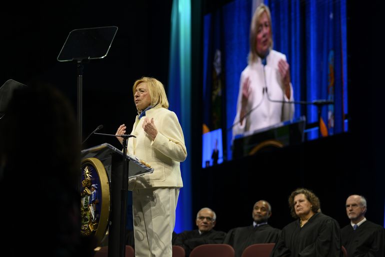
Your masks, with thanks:
[[[176,235],[174,245],[184,248],[186,256],[190,255],[193,248],[201,244],[222,243],[225,232],[215,231],[215,212],[209,208],[202,208],[196,215],[196,230],[186,230]]]

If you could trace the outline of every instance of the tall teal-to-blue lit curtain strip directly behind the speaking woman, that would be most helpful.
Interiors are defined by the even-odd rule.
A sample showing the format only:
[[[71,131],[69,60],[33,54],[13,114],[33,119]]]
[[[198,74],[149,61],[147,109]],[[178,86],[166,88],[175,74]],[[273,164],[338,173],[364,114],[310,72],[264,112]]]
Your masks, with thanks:
[[[191,3],[174,0],[171,11],[167,98],[183,130],[187,159],[180,163],[183,187],[176,207],[175,232],[192,229],[191,213]]]

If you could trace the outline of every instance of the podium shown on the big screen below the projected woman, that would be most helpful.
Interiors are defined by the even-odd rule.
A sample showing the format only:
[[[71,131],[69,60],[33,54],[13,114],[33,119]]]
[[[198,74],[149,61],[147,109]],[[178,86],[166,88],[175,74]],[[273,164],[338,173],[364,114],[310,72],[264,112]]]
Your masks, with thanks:
[[[273,126],[236,135],[233,141],[232,159],[240,159],[257,152],[270,151],[303,142],[306,118],[304,116]]]

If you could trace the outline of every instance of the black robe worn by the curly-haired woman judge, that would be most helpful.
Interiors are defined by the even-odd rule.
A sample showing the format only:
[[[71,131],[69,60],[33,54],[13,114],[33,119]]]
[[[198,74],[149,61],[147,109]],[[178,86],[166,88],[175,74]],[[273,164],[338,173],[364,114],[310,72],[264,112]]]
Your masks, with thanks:
[[[300,227],[299,219],[283,227],[270,257],[342,256],[338,222],[321,212]]]

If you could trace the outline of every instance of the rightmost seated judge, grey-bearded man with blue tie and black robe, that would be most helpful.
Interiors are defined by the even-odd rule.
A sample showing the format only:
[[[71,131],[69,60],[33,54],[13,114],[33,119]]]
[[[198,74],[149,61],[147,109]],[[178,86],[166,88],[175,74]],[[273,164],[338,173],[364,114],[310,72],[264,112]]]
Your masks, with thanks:
[[[361,195],[350,195],[346,199],[346,214],[350,224],[341,229],[342,245],[347,256],[384,256],[383,227],[366,220],[366,199]]]

